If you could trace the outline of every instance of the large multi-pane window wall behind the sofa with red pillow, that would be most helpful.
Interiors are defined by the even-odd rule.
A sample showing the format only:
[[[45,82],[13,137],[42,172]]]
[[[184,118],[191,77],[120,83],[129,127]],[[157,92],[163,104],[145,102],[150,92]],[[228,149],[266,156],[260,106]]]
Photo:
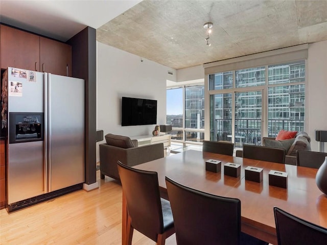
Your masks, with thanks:
[[[305,129],[305,60],[208,75],[210,140],[242,148],[263,135]]]

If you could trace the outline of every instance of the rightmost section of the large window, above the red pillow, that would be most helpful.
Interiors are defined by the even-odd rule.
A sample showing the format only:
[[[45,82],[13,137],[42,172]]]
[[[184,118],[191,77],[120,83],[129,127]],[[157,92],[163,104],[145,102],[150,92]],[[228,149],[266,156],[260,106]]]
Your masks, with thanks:
[[[305,126],[305,61],[268,66],[268,136]]]

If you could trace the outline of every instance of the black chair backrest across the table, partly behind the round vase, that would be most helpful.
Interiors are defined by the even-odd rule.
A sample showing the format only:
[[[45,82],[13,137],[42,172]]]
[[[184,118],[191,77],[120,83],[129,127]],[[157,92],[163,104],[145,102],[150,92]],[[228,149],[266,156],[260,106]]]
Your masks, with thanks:
[[[319,168],[325,157],[327,153],[324,152],[296,151],[296,162],[301,167]]]

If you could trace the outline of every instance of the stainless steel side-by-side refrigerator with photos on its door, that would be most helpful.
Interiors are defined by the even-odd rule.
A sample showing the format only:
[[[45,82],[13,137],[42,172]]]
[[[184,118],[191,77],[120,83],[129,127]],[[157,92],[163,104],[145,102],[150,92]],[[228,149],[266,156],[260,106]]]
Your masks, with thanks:
[[[84,80],[12,67],[5,76],[8,211],[82,188]]]

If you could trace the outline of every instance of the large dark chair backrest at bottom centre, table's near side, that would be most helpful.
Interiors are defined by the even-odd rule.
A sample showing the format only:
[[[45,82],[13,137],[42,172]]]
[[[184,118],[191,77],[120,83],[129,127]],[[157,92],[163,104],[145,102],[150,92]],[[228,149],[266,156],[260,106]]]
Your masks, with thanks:
[[[241,201],[195,190],[166,177],[178,245],[240,244]]]

